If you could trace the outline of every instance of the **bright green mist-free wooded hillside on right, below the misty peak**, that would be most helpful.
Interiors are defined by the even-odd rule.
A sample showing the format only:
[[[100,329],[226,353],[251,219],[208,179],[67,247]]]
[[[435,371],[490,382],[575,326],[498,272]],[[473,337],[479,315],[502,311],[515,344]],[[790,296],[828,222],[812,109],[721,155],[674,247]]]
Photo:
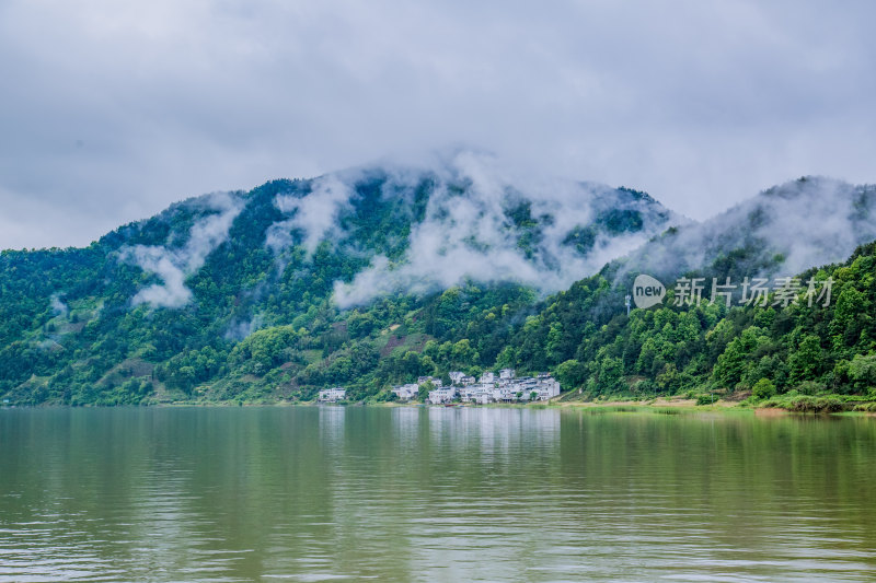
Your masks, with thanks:
[[[620,305],[616,294],[626,290],[599,275],[552,298],[509,339],[510,360],[549,363],[564,386],[580,387],[565,399],[688,394],[711,403],[717,395],[800,411],[874,411],[875,272],[872,242],[845,261],[797,273],[798,289],[774,287],[765,302],[676,305],[670,291],[662,304],[629,316],[593,310]],[[821,282],[811,301],[810,279]]]

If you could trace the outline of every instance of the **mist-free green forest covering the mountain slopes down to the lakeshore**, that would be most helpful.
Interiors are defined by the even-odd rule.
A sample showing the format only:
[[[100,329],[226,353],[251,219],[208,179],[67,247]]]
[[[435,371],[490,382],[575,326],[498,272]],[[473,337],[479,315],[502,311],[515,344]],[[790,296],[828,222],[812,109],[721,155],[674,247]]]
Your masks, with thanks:
[[[284,220],[276,196],[309,184],[279,180],[235,195],[245,206],[227,240],[185,275],[192,301],[177,307],[132,302],[161,279],[127,260],[125,249],[166,245],[182,253],[193,225],[216,214],[198,203],[172,207],[87,248],[0,253],[0,399],[299,403],[343,385],[350,401],[382,403],[391,385],[420,375],[514,368],[552,372],[563,404],[683,395],[701,406],[724,399],[799,411],[876,408],[874,243],[842,264],[799,275],[803,282],[833,281],[828,305],[808,305],[804,285],[794,302],[677,306],[670,287],[662,304],[627,315],[623,296],[636,266],[618,260],[546,298],[522,284],[468,281],[342,310],[334,282],[353,281],[369,264],[362,249],[400,257],[417,205],[428,198],[424,178],[411,200],[385,200],[374,194],[384,179],[362,182],[338,217],[346,238],[325,238],[312,250],[295,230],[281,253],[264,245]],[[521,248],[539,253],[550,220],[526,205],[506,212]],[[633,211],[610,213],[588,232],[622,234],[642,224]],[[568,244],[580,246],[580,237]],[[685,275],[738,281],[752,257],[760,257],[753,243]],[[769,263],[758,267],[770,270]]]

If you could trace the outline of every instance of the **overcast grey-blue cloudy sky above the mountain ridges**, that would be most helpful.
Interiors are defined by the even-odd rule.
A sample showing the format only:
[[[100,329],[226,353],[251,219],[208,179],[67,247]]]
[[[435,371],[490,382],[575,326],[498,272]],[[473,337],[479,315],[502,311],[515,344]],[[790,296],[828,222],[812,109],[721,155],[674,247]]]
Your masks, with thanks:
[[[876,4],[0,0],[0,247],[450,144],[702,219],[876,182]]]

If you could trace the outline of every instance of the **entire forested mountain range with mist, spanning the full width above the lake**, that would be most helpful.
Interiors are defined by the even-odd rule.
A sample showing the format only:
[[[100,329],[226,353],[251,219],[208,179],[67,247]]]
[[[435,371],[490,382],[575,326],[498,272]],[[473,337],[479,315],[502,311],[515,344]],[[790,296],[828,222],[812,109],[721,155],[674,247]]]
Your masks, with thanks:
[[[464,152],[194,198],[87,248],[2,252],[0,398],[274,401],[344,385],[380,400],[418,375],[500,366],[554,372],[563,398],[761,380],[761,396],[866,393],[872,245],[817,271],[835,280],[829,306],[675,306],[671,280],[843,260],[876,238],[874,203],[871,187],[807,178],[694,223],[644,193],[518,180]],[[670,293],[627,316],[638,272]]]

